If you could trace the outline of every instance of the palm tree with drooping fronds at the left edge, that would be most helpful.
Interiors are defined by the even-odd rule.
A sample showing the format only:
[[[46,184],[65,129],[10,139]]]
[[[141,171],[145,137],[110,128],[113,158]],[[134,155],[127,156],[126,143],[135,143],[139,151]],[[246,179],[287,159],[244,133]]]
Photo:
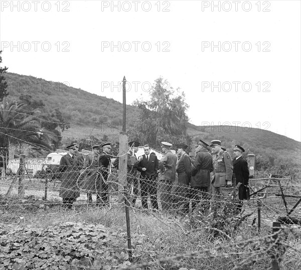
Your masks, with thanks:
[[[33,147],[50,149],[58,138],[53,132],[41,128],[35,112],[22,113],[25,104],[4,101],[0,105],[0,155],[9,156],[9,147],[28,144]]]

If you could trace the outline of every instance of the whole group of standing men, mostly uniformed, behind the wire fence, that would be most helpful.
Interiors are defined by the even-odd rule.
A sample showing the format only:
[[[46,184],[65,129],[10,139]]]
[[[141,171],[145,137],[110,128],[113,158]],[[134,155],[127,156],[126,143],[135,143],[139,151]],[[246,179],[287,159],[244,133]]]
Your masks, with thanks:
[[[222,198],[223,188],[238,186],[240,211],[242,200],[248,199],[249,169],[247,161],[242,157],[245,151],[235,145],[234,158],[221,146],[220,140],[211,141],[211,145],[200,140],[196,147],[196,155],[192,158],[186,153],[188,145],[180,143],[175,155],[171,151],[172,144],[162,142],[163,156],[158,160],[155,152],[150,153],[149,145],[144,145],[144,154],[135,156],[138,142],[130,142],[127,152],[127,189],[131,192],[131,204],[135,206],[138,196],[137,171],[140,172],[140,195],[142,208],[148,208],[147,198],[153,210],[158,211],[157,192],[163,211],[177,210],[182,214],[192,210],[197,204],[203,213],[209,210],[210,201]],[[67,208],[79,197],[80,189],[87,192],[87,201],[92,202],[92,193],[96,193],[96,204],[108,204],[108,176],[112,172],[111,144],[94,145],[93,153],[85,159],[78,152],[78,144],[68,147],[69,153],[62,157],[59,170],[63,172],[60,197]],[[100,149],[102,148],[102,154]],[[114,161],[118,168],[119,157]],[[238,184],[240,183],[240,184]],[[230,189],[231,190],[231,189]],[[211,198],[212,193],[212,198]],[[214,204],[212,204],[214,208]],[[214,209],[213,209],[214,211]]]

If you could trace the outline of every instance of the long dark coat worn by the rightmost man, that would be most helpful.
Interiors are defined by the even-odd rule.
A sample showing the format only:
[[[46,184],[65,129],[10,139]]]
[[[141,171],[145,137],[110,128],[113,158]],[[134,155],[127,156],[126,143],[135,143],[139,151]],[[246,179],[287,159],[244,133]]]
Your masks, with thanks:
[[[240,156],[238,159],[233,160],[233,184],[241,183],[238,188],[239,200],[249,199],[247,185],[249,184],[249,167],[248,162]]]

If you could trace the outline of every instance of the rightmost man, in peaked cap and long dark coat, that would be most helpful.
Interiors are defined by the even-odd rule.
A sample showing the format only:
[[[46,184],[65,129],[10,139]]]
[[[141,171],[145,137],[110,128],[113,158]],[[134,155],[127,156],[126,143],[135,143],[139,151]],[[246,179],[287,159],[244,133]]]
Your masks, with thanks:
[[[237,209],[241,211],[242,208],[242,200],[248,200],[250,197],[249,194],[249,167],[248,162],[242,157],[242,153],[245,150],[239,146],[235,145],[233,149],[233,177],[232,182],[233,185],[236,186],[238,183],[241,185],[238,187],[238,199],[240,202],[237,205]]]

